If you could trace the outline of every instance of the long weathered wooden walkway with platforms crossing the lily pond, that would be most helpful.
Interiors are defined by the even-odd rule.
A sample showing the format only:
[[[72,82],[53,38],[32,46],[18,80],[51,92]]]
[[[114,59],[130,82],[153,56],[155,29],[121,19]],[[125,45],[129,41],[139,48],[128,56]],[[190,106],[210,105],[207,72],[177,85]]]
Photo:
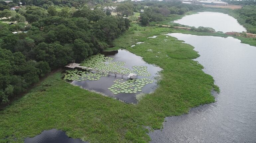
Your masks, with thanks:
[[[127,76],[127,79],[137,79],[138,78],[138,75],[134,74],[134,73],[123,74],[123,73],[118,73],[118,72],[114,72],[114,71],[99,70],[99,69],[96,69],[96,68],[80,66],[80,64],[78,64],[78,63],[69,63],[69,64],[65,65],[65,67],[72,68],[72,69],[81,68],[81,69],[89,70],[90,72],[93,72],[93,71],[96,72],[96,73],[102,72],[102,74],[108,73],[109,76],[110,76],[110,74],[115,74],[115,77],[116,77],[116,75],[121,75],[122,78],[123,78],[123,76]]]

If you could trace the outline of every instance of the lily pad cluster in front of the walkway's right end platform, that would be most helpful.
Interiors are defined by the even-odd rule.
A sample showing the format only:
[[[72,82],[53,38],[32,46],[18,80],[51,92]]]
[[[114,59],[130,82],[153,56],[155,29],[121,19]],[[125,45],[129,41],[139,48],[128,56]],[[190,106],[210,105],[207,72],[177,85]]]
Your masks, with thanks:
[[[141,92],[142,88],[146,84],[153,83],[154,80],[150,80],[147,78],[142,78],[142,79],[136,79],[136,80],[127,80],[123,81],[121,80],[114,80],[115,84],[113,84],[111,87],[108,89],[113,92],[113,94],[118,94],[118,93],[137,93]]]

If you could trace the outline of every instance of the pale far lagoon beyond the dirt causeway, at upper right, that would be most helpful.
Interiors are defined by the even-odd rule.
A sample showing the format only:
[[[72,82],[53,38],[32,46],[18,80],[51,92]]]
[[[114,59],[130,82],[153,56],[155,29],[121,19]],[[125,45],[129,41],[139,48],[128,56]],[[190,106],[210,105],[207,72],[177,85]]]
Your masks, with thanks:
[[[235,18],[223,13],[200,12],[185,16],[173,22],[195,27],[211,27],[215,29],[215,31],[222,31],[224,33],[232,31],[246,31],[246,29],[240,25]]]

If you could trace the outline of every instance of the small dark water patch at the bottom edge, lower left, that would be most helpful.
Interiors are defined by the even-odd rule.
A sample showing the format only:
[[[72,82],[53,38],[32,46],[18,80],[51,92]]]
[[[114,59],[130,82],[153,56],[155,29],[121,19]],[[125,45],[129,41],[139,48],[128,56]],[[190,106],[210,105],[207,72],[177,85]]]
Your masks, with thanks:
[[[51,129],[44,130],[41,134],[25,138],[24,143],[89,143],[81,139],[69,138],[64,131]]]

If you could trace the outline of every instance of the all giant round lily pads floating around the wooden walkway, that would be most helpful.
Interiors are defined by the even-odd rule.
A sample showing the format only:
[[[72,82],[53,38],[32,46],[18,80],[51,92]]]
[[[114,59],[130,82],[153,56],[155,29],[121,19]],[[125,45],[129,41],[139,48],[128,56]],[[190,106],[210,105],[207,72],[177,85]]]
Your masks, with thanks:
[[[133,66],[133,70],[129,68],[123,67],[125,62],[121,61],[112,61],[113,58],[104,56],[103,54],[96,54],[91,56],[90,58],[84,60],[80,65],[85,67],[91,67],[95,70],[105,71],[99,73],[91,73],[86,70],[66,70],[64,73],[64,80],[76,80],[76,81],[85,81],[85,80],[100,80],[102,76],[108,76],[108,71],[118,72],[122,74],[136,73],[140,76],[149,77],[151,74],[147,71],[147,66]],[[153,80],[147,78],[141,78],[136,80],[115,80],[115,84],[113,84],[110,88],[110,91],[113,94],[118,93],[137,93],[141,92],[142,88],[146,84],[153,83]]]

